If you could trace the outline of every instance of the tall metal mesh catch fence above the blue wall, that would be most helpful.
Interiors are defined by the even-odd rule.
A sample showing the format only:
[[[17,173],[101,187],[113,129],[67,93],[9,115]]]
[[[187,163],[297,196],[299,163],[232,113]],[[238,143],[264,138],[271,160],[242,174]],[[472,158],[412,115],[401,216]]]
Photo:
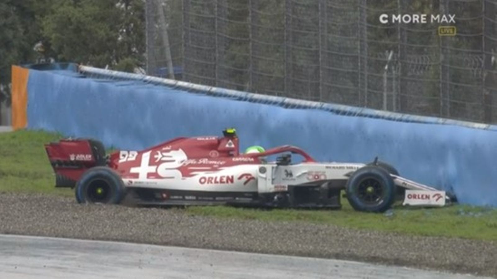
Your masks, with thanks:
[[[147,0],[146,7],[149,75],[167,77],[172,66],[176,79],[193,83],[497,122],[497,0]],[[384,13],[455,14],[456,23],[382,24]],[[457,35],[439,36],[440,25],[456,26]]]

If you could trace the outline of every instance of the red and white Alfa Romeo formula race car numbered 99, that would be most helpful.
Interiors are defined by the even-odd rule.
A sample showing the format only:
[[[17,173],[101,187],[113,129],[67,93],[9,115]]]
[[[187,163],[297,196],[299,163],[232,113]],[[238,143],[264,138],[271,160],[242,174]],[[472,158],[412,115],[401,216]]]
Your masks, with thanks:
[[[56,187],[76,188],[79,203],[126,199],[139,205],[340,208],[340,191],[345,190],[352,207],[361,211],[385,211],[399,196],[405,196],[405,204],[445,205],[445,192],[402,178],[377,159],[369,164],[316,162],[289,145],[241,154],[235,129],[223,134],[176,138],[109,155],[93,139],[63,139],[45,148]],[[302,161],[292,163],[292,154]],[[276,161],[266,161],[272,155]]]

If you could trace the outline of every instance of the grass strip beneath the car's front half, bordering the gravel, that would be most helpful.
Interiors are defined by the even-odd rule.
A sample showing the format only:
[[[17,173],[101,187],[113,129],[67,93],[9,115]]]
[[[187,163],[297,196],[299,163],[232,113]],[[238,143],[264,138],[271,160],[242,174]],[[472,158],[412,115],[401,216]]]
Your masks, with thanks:
[[[497,240],[497,209],[464,205],[431,209],[396,206],[379,214],[355,211],[342,199],[340,210],[190,207],[187,211],[223,218],[310,222],[408,235]]]

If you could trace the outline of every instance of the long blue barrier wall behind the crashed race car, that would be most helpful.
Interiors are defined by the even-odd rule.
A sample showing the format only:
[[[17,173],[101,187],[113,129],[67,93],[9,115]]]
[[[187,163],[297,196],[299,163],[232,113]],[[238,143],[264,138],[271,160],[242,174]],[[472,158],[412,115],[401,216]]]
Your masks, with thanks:
[[[497,206],[497,132],[285,109],[155,86],[30,70],[28,128],[140,149],[178,136],[236,127],[241,148],[297,145],[319,160],[369,162],[453,191],[461,203]]]

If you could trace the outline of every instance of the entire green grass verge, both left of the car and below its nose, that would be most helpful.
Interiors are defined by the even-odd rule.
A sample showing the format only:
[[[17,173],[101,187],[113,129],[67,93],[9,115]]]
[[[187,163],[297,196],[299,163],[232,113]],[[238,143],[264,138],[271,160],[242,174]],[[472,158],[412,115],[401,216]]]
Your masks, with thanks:
[[[44,143],[60,139],[40,131],[0,133],[0,192],[33,192],[73,196],[69,189],[56,189]],[[409,235],[497,240],[497,209],[464,205],[437,209],[394,207],[385,214],[353,210],[342,199],[341,210],[240,209],[190,207],[188,214],[221,218],[256,219],[333,224],[343,227],[397,232]]]

